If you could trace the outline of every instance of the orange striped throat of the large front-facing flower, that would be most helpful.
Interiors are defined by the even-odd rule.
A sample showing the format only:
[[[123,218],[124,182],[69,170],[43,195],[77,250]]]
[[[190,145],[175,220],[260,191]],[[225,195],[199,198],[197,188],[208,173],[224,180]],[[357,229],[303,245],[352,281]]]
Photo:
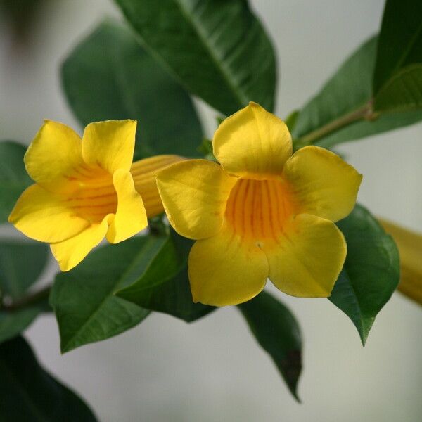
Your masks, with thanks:
[[[276,239],[292,215],[293,203],[285,183],[276,179],[239,179],[226,204],[226,222],[241,235],[257,241]]]

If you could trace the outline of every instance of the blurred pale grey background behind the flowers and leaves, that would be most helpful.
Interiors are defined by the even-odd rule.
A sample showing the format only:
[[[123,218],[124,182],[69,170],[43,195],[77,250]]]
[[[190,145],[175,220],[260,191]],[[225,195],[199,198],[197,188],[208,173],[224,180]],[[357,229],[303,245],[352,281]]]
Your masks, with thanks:
[[[384,2],[250,3],[274,41],[280,74],[276,113],[286,117],[378,31]],[[60,63],[101,18],[119,16],[107,0],[40,0],[39,5],[25,31],[13,31],[11,20],[0,15],[0,139],[26,144],[44,118],[80,132],[60,89]],[[212,136],[215,113],[198,106]],[[422,124],[338,151],[364,174],[361,203],[422,232]],[[4,232],[15,235],[11,228]],[[44,280],[51,281],[55,271],[51,262]],[[302,327],[302,404],[290,396],[234,307],[191,325],[155,313],[131,331],[64,356],[53,316],[41,316],[26,336],[42,364],[105,422],[422,420],[421,307],[396,293],[362,348],[351,321],[331,302],[276,294]]]

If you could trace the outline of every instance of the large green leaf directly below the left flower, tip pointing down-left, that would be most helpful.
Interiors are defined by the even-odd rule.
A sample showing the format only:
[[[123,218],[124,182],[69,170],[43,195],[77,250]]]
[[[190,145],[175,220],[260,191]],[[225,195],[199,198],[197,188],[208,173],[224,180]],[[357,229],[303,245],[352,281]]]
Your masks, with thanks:
[[[113,293],[139,279],[166,241],[165,236],[139,236],[107,245],[56,276],[50,303],[63,353],[122,333],[148,316],[147,309]]]

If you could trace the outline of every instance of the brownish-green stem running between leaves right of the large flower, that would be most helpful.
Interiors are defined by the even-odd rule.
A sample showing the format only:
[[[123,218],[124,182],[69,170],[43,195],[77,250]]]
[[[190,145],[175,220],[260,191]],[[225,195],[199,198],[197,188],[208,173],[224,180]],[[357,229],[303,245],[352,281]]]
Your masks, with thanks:
[[[309,134],[306,134],[305,136],[302,136],[302,138],[299,139],[300,146],[312,145],[312,143],[318,139],[321,139],[324,136],[327,136],[328,134],[341,129],[342,127],[346,127],[349,124],[357,122],[358,120],[372,120],[375,117],[376,115],[374,115],[372,110],[372,100],[370,100],[365,103],[364,106],[359,107],[356,110],[353,110],[352,112],[347,113],[341,117],[338,117],[338,119],[324,124],[324,126],[309,132]]]

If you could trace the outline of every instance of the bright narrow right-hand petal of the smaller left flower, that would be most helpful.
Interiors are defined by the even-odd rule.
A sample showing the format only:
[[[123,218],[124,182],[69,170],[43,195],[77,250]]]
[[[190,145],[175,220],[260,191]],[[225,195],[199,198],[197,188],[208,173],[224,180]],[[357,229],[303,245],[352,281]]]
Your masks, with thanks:
[[[113,184],[117,192],[117,211],[108,228],[107,240],[119,243],[145,229],[148,220],[142,198],[135,191],[132,175],[117,170],[113,174]]]

